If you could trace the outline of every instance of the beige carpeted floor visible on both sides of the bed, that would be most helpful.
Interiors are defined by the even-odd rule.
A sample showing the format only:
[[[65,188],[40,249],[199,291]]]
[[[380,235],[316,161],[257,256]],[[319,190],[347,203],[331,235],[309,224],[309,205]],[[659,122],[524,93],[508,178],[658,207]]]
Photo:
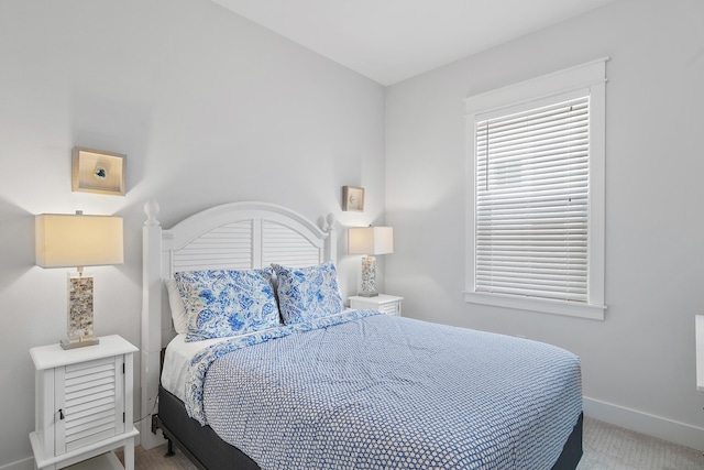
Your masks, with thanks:
[[[703,442],[704,444],[704,442]],[[703,470],[698,450],[584,418],[584,456],[578,470]],[[166,446],[135,449],[135,470],[194,470],[180,451],[165,458]],[[121,456],[120,456],[121,457]]]

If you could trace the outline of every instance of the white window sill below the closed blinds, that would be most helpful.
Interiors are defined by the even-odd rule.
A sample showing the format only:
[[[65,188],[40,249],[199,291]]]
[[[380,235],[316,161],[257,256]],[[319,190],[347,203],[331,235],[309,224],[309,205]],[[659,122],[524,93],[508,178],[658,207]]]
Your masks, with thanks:
[[[561,300],[547,300],[535,297],[517,297],[502,294],[484,294],[464,292],[464,302],[468,304],[491,305],[494,307],[517,308],[521,310],[538,311],[543,314],[564,315],[568,317],[590,318],[603,320],[605,306],[574,304]]]

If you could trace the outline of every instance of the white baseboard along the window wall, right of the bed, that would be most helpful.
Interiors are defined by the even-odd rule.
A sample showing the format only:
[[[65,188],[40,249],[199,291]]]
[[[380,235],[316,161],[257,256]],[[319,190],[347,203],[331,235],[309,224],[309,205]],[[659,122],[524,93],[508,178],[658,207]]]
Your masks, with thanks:
[[[584,415],[648,436],[704,450],[704,429],[636,409],[584,397]]]

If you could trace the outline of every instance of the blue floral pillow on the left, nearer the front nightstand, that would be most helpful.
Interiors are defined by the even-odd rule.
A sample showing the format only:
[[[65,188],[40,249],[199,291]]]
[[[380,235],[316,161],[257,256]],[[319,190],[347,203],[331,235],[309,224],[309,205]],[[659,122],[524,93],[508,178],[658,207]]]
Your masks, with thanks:
[[[174,274],[188,317],[186,341],[243,335],[280,325],[272,270]]]

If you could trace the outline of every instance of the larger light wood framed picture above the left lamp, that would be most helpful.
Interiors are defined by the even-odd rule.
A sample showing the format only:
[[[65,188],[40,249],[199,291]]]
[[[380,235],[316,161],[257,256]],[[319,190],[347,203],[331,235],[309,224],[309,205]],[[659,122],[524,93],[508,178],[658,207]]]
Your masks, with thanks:
[[[74,147],[72,190],[124,196],[127,155]]]

